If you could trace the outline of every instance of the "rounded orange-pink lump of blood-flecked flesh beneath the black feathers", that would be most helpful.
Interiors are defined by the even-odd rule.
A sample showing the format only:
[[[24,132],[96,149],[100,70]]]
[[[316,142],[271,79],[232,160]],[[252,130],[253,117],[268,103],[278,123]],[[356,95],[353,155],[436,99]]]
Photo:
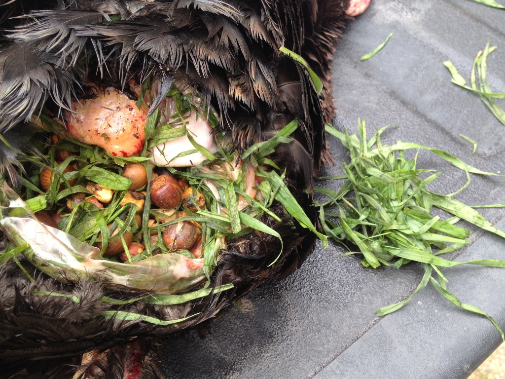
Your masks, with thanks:
[[[98,145],[109,154],[131,157],[144,147],[147,110],[114,87],[96,91],[96,97],[74,101],[67,112],[67,130],[76,139]]]

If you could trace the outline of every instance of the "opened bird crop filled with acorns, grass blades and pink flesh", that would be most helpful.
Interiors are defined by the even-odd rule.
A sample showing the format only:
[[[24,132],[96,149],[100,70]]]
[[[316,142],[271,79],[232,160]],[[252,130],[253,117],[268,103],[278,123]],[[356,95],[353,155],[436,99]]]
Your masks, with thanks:
[[[267,214],[281,221],[269,210],[275,200],[325,238],[269,159],[278,144],[291,141],[296,120],[239,155],[227,149],[215,114],[197,93],[173,87],[147,116],[150,83],[129,85],[138,101],[93,84],[65,121],[48,111],[33,119],[31,142],[43,156],[22,155],[17,194],[4,183],[1,222],[14,244],[0,264],[14,259],[22,267],[16,255],[23,251],[59,280],[91,277],[156,293],[144,300],[166,304],[166,296],[178,303],[210,293],[227,241],[253,229],[281,240],[262,222]],[[114,316],[135,317],[126,313]]]

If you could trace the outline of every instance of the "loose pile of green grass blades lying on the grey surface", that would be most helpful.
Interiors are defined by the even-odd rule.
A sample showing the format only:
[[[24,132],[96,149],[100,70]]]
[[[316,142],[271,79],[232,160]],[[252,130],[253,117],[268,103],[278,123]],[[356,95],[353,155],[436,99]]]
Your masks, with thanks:
[[[414,293],[399,303],[377,310],[377,315],[383,316],[400,309],[430,282],[451,303],[489,318],[504,338],[500,326],[490,315],[460,302],[447,289],[447,279],[442,269],[462,264],[505,268],[505,262],[455,262],[441,257],[470,243],[470,230],[456,225],[460,219],[505,238],[505,233],[478,211],[453,198],[470,184],[470,173],[497,174],[478,170],[449,153],[423,145],[400,141],[393,146],[383,145],[381,134],[386,128],[377,130],[367,139],[366,124],[362,121],[358,127],[360,140],[356,134],[342,133],[327,125],[326,130],[340,139],[349,150],[350,162],[343,163],[342,175],[323,178],[343,180],[338,192],[327,188],[315,189],[329,199],[320,204],[320,220],[325,234],[347,249],[356,246],[357,251],[349,250],[343,255],[362,254],[362,264],[366,267],[385,265],[400,268],[410,262],[423,265],[425,273]],[[440,173],[427,176],[433,170],[418,169],[417,154],[414,159],[405,157],[405,150],[408,149],[435,153],[464,170],[467,183],[456,193],[446,196],[429,191],[426,186]],[[440,216],[432,216],[434,207],[448,212],[452,217],[443,220]]]

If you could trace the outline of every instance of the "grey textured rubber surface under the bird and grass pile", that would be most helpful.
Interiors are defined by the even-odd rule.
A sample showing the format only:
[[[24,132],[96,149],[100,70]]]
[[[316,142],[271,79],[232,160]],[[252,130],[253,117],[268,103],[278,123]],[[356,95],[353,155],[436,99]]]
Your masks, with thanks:
[[[385,48],[361,62],[394,32]],[[505,11],[472,0],[374,0],[352,23],[334,64],[336,126],[356,132],[358,117],[381,127],[396,123],[383,141],[412,141],[440,148],[485,171],[505,173],[505,126],[474,94],[450,82],[450,60],[466,78],[491,38],[498,45],[488,60],[488,81],[504,91]],[[478,142],[472,145],[464,134]],[[335,140],[335,162],[346,159]],[[415,152],[413,152],[415,154]],[[448,194],[466,182],[465,173],[429,152],[419,168],[442,175],[430,189]],[[332,167],[324,174],[338,174]],[[323,183],[328,186],[329,183]],[[332,183],[335,187],[337,183]],[[457,196],[467,204],[505,203],[505,178],[472,176]],[[505,210],[482,213],[505,230]],[[501,220],[501,221],[500,221]],[[475,229],[472,229],[475,230]],[[505,259],[505,241],[481,231],[458,260]],[[448,303],[428,287],[409,305],[382,319],[374,311],[405,299],[422,269],[365,269],[344,250],[318,248],[286,280],[255,290],[207,326],[166,340],[165,374],[176,378],[459,378],[466,377],[499,344],[484,317]],[[448,289],[505,326],[505,270],[458,267],[445,270]]]

